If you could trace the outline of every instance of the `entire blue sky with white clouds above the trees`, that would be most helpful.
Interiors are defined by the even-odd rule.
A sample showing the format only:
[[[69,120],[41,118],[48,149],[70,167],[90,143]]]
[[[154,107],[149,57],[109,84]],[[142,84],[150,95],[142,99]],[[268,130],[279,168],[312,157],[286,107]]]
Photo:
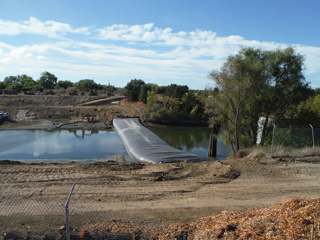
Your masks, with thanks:
[[[319,9],[319,0],[0,0],[0,81],[48,71],[63,81],[200,90],[239,46],[291,45],[318,88]]]

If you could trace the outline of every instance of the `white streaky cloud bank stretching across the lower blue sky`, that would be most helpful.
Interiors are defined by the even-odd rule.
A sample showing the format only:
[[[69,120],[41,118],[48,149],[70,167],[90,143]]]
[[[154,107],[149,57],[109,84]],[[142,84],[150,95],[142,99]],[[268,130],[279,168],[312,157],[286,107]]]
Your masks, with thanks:
[[[0,36],[18,39],[21,34],[34,36],[34,44],[26,45],[21,40],[20,45],[13,45],[0,40],[0,80],[22,73],[36,78],[42,71],[49,71],[60,80],[73,82],[91,78],[124,86],[132,78],[141,78],[160,85],[177,83],[203,89],[208,82],[206,75],[219,68],[228,55],[235,54],[239,45],[265,50],[288,45],[219,36],[201,29],[174,32],[157,28],[154,23],[94,29],[74,28],[53,20],[42,22],[34,17],[20,23],[0,20]],[[38,43],[38,35],[47,41]],[[320,48],[292,46],[306,55],[307,81],[308,74],[320,81]]]

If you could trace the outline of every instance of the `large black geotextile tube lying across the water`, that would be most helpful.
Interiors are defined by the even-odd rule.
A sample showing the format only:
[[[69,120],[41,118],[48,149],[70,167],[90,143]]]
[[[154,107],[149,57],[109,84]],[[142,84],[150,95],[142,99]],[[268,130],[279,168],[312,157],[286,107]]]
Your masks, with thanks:
[[[173,148],[156,134],[142,126],[136,118],[113,119],[113,127],[136,162],[151,163],[204,162],[208,160]]]

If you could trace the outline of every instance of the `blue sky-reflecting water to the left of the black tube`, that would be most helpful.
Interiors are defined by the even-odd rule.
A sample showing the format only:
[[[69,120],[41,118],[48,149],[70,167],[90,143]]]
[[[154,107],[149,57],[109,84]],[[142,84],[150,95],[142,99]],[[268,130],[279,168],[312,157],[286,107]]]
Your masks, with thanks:
[[[112,129],[1,130],[0,139],[0,160],[96,162],[115,160],[124,154],[125,160],[131,161],[121,138]]]

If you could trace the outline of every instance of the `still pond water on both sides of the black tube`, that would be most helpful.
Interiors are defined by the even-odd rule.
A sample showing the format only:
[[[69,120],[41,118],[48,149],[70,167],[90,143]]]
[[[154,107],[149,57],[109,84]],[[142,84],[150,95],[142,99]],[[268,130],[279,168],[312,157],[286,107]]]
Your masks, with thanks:
[[[171,146],[206,157],[210,129],[198,127],[162,127],[149,129]],[[98,162],[115,160],[131,162],[126,148],[112,129],[8,129],[0,130],[0,160],[35,163]],[[220,149],[218,158],[230,151]]]

